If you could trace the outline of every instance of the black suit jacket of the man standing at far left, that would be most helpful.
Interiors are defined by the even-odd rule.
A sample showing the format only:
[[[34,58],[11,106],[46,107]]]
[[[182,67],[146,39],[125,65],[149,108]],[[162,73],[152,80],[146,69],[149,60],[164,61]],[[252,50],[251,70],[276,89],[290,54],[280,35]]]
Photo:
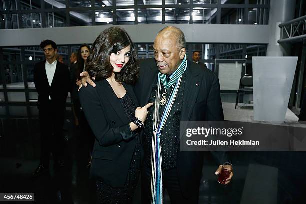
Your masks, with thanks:
[[[59,61],[56,62],[56,70],[50,86],[45,71],[45,60],[38,62],[34,67],[34,82],[38,92],[38,109],[65,107],[67,94],[71,89],[68,66]]]

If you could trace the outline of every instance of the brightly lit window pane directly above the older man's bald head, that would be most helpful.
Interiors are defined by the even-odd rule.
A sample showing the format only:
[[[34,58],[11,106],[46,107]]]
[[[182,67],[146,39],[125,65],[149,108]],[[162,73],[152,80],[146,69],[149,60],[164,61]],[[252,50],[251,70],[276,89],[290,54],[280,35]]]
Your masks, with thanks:
[[[166,23],[189,23],[190,14],[189,8],[165,8]]]

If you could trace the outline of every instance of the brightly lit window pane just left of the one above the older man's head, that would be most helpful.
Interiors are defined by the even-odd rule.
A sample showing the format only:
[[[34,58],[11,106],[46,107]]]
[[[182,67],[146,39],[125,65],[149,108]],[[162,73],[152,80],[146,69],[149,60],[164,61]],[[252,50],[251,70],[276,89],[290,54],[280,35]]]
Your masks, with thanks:
[[[139,24],[161,24],[162,8],[138,9]]]

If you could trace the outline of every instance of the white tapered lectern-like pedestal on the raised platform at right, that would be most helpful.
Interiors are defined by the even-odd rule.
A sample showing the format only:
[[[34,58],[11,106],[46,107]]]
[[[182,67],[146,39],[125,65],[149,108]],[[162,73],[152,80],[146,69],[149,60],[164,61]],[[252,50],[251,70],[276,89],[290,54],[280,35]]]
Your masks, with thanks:
[[[285,120],[298,57],[253,57],[254,120]]]

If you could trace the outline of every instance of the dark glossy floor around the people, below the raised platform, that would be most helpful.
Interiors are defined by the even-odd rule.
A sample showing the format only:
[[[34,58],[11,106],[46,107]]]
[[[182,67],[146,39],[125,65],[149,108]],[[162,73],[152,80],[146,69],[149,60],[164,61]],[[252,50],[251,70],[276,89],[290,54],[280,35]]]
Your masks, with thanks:
[[[59,171],[51,168],[49,173],[31,179],[39,163],[38,120],[0,120],[0,192],[35,193],[31,203],[95,203],[95,183],[85,167],[89,159],[83,145],[86,138],[72,121],[68,112],[65,167]],[[199,203],[306,203],[305,157],[306,152],[228,152],[234,179],[223,186],[214,175],[218,164],[214,152],[206,152]],[[167,195],[164,203],[170,203]]]

